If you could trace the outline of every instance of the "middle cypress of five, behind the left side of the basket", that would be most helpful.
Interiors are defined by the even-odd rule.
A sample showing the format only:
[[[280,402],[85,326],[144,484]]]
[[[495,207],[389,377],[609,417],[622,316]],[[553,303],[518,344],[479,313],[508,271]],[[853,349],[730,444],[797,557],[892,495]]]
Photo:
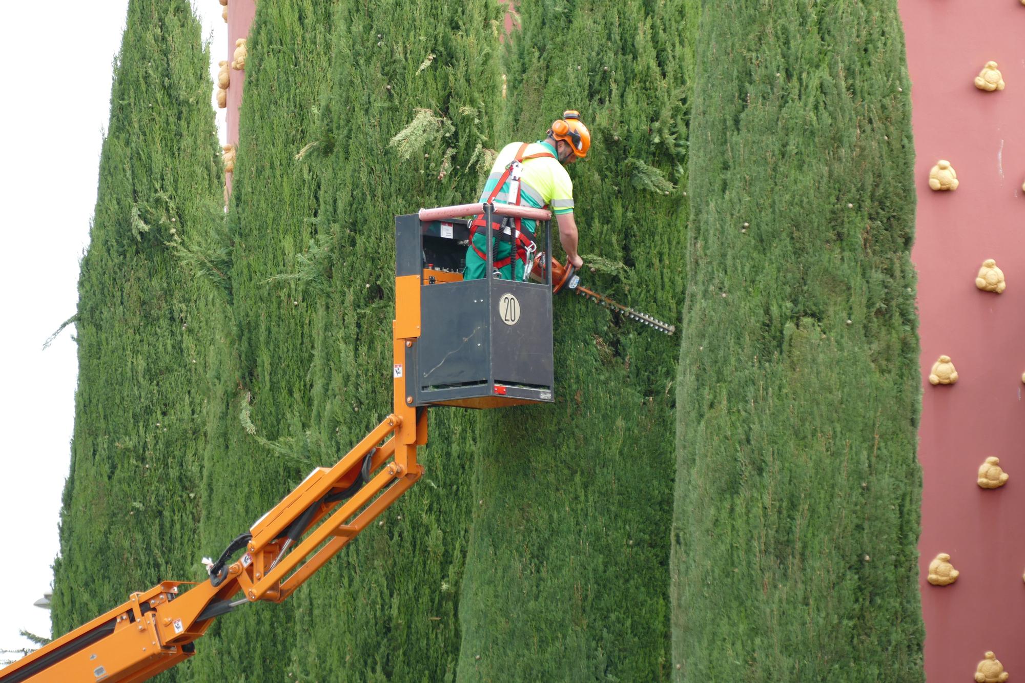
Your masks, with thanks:
[[[493,0],[339,2],[333,87],[309,159],[317,237],[297,267],[318,295],[309,444],[330,464],[392,411],[395,219],[471,201],[500,112]],[[295,596],[306,680],[451,681],[478,414],[433,408],[416,487]]]

